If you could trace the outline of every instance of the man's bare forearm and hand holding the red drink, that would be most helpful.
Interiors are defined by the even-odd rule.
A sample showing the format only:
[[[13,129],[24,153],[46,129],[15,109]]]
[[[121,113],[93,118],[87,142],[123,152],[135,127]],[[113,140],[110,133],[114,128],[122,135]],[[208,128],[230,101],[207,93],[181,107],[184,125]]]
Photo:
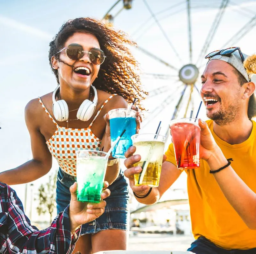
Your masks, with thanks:
[[[207,123],[201,127],[200,157],[207,161],[211,171],[227,165],[228,161],[216,144]],[[231,163],[232,165],[232,163]],[[245,184],[231,166],[213,173],[224,196],[250,229],[256,229],[256,194]]]

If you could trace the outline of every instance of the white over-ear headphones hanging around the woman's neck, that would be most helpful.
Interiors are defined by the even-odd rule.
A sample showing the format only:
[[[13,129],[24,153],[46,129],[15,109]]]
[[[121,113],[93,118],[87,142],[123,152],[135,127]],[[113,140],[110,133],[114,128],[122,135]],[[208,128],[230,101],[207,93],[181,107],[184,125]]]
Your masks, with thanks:
[[[82,104],[80,105],[78,111],[77,111],[77,119],[81,120],[81,121],[88,121],[92,114],[95,111],[97,102],[98,102],[98,95],[97,95],[97,90],[94,86],[91,86],[93,88],[94,91],[94,99],[93,101],[90,100],[84,100],[82,102]],[[53,105],[52,105],[52,109],[53,109],[53,114],[54,117],[57,121],[66,121],[69,119],[69,108],[68,108],[68,104],[65,100],[57,100],[56,101],[56,94],[60,89],[60,85],[57,86],[57,88],[54,90],[53,92]]]

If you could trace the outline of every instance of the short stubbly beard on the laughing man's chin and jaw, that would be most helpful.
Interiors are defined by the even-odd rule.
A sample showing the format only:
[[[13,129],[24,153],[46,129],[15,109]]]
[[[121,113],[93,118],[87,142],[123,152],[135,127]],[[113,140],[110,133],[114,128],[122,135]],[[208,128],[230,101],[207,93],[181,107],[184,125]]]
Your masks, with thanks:
[[[238,104],[236,105],[229,105],[228,108],[223,111],[223,109],[219,109],[218,112],[210,113],[210,111],[207,111],[207,117],[211,120],[214,120],[216,124],[223,126],[227,125],[234,121],[236,118],[237,112],[238,112]]]

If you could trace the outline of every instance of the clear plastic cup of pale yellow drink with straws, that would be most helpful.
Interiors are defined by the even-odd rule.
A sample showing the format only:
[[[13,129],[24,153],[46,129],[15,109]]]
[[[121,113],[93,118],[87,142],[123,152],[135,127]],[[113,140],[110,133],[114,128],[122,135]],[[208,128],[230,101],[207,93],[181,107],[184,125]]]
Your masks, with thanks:
[[[136,154],[141,155],[141,161],[134,166],[141,166],[142,172],[134,175],[135,185],[147,184],[157,187],[160,180],[165,136],[157,134],[135,134],[131,137],[136,147]]]

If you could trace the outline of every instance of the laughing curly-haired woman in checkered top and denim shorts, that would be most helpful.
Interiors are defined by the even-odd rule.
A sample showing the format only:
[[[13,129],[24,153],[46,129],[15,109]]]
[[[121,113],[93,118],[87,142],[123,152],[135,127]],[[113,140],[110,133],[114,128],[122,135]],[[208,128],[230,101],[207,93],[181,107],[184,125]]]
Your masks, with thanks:
[[[137,98],[137,111],[147,95],[136,73],[138,63],[125,46],[134,45],[124,32],[92,18],[76,18],[62,25],[50,42],[49,62],[58,86],[31,100],[25,109],[33,159],[0,174],[2,182],[20,184],[45,175],[52,156],[59,164],[57,212],[70,201],[76,181],[76,150],[108,151],[111,146],[107,112],[127,108]],[[136,113],[136,131],[140,128]],[[125,250],[128,229],[128,189],[119,159],[109,156],[105,180],[111,196],[102,216],[82,226],[75,251],[83,254]],[[90,207],[88,207],[90,208]]]

